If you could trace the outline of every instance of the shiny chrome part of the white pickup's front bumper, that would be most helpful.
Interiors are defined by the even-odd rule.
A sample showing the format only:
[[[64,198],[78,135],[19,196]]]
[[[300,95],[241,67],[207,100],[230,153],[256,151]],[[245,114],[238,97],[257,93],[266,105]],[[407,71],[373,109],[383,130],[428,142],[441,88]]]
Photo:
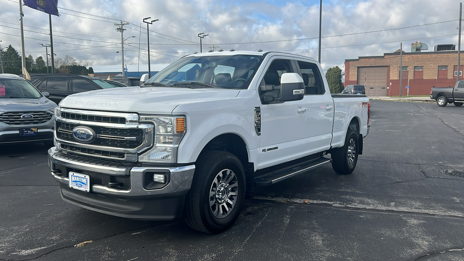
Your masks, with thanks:
[[[130,189],[112,189],[103,185],[91,185],[90,191],[99,194],[122,196],[122,197],[173,197],[183,196],[187,194],[192,185],[193,173],[195,165],[163,168],[163,167],[125,167],[124,165],[116,165],[116,167],[108,166],[108,164],[98,164],[97,160],[88,161],[73,161],[64,157],[63,152],[52,147],[48,150],[48,160],[50,169],[54,170],[54,165],[61,165],[67,168],[92,171],[112,176],[130,176]],[[97,163],[95,163],[97,162]],[[146,172],[169,171],[169,183],[161,189],[145,189],[143,187],[144,174]],[[66,185],[69,184],[69,178],[58,176],[51,171],[52,177]]]

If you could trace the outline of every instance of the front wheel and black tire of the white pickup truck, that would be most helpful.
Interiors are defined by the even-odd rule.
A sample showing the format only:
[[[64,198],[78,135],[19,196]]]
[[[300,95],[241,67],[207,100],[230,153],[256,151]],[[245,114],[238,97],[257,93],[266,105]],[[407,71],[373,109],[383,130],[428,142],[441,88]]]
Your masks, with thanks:
[[[245,171],[242,163],[232,153],[210,150],[200,155],[195,165],[192,187],[186,195],[184,220],[191,228],[201,232],[223,232],[237,220],[245,199]],[[224,175],[232,176],[231,180],[223,181]],[[225,184],[231,185],[231,188]],[[221,191],[224,193],[218,192],[219,187],[223,188]],[[211,192],[214,193],[213,196]],[[234,204],[230,203],[232,201]]]

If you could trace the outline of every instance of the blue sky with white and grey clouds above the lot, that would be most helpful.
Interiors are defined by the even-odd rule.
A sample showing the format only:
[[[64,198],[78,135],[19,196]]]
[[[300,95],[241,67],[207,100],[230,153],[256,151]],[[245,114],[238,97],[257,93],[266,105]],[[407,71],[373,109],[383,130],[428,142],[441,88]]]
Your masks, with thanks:
[[[319,0],[59,0],[58,11],[60,17],[52,15],[54,52],[93,65],[121,64],[114,25],[121,20],[129,23],[124,38],[135,36],[125,41],[125,63],[147,64],[145,17],[159,19],[150,25],[151,64],[200,52],[198,33],[209,34],[203,51],[219,46],[318,56]],[[45,57],[39,44],[50,43],[48,14],[23,12],[26,56]],[[406,52],[416,41],[428,51],[457,45],[458,20],[456,0],[322,0],[322,67],[344,70],[345,59],[394,52],[400,43]],[[20,52],[18,0],[0,0],[0,40]]]

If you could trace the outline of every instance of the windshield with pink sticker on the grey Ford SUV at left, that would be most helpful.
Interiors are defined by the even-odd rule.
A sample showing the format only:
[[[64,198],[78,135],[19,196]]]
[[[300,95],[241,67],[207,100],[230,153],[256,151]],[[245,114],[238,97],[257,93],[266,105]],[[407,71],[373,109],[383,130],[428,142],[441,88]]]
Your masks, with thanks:
[[[0,98],[38,99],[42,94],[26,80],[0,79]]]

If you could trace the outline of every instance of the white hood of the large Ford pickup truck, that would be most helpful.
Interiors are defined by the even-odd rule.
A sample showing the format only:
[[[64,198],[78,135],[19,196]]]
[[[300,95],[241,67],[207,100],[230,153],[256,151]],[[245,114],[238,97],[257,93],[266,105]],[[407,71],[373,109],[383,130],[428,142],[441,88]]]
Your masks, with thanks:
[[[240,90],[173,87],[123,87],[76,93],[60,102],[63,108],[172,114],[179,104],[237,97]]]

